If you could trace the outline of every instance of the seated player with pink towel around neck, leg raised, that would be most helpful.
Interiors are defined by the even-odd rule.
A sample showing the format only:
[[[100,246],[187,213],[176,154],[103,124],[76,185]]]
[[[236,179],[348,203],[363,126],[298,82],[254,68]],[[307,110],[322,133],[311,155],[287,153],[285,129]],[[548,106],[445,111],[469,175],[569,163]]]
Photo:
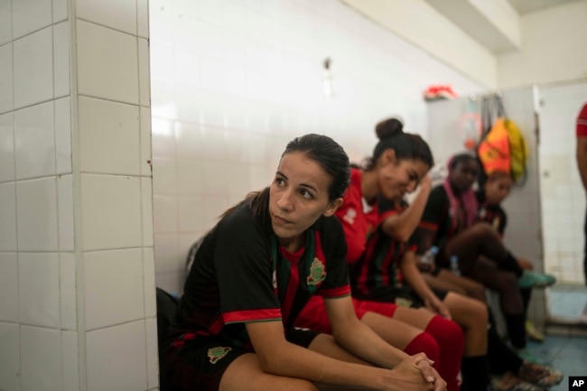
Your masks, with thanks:
[[[472,185],[479,165],[471,154],[457,154],[449,163],[449,175],[436,186],[424,208],[418,228],[418,252],[440,248],[435,270],[439,278],[450,275],[449,258],[457,256],[462,275],[499,293],[501,310],[511,344],[526,359],[524,304],[519,288],[540,284],[539,274],[525,273],[515,256],[504,247],[489,224],[476,223],[478,204]]]

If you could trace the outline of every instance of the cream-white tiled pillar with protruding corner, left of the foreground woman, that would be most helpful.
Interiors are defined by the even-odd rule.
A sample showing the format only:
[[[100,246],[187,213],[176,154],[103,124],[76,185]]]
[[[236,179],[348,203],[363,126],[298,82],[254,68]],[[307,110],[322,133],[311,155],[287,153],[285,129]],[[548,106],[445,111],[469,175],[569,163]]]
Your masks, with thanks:
[[[158,387],[149,96],[147,0],[0,1],[3,391]]]

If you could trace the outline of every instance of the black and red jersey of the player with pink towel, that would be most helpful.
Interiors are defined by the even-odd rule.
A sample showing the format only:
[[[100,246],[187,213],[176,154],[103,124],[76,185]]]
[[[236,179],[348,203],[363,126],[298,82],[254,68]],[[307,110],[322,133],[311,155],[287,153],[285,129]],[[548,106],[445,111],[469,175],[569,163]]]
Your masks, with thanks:
[[[442,184],[430,191],[418,228],[430,229],[436,233],[434,246],[443,248],[449,239],[461,232],[461,219],[457,217],[459,213],[464,214],[464,209],[461,200],[458,202],[460,210],[452,210],[451,201]]]

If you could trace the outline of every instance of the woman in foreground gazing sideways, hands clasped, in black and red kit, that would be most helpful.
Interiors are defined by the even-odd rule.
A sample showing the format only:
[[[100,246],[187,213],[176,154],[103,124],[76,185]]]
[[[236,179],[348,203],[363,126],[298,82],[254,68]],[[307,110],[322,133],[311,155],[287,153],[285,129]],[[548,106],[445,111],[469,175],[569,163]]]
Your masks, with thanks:
[[[424,354],[408,357],[355,315],[332,216],[348,184],[340,145],[304,135],[287,145],[270,187],[225,212],[197,251],[163,343],[162,388],[445,388]],[[313,294],[324,297],[332,336],[293,328]]]

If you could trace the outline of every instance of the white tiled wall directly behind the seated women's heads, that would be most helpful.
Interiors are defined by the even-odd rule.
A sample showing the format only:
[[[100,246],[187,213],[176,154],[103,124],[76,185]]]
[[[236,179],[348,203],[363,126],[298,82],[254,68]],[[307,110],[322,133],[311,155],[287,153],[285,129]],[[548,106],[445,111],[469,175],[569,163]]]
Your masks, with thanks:
[[[426,135],[428,85],[483,89],[337,0],[151,0],[149,8],[156,282],[175,293],[191,244],[270,182],[294,136],[331,135],[359,161],[386,116]]]

